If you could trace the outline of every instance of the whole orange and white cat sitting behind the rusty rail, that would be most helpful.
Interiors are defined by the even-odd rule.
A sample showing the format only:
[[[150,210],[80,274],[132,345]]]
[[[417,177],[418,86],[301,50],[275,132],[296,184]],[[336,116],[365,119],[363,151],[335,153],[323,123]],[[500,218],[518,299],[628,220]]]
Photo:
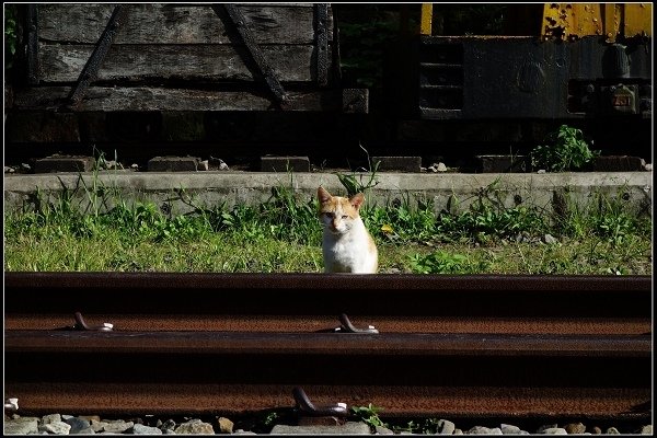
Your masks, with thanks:
[[[365,196],[345,198],[318,188],[320,221],[324,228],[322,253],[325,273],[376,274],[379,266],[377,244],[360,218]]]

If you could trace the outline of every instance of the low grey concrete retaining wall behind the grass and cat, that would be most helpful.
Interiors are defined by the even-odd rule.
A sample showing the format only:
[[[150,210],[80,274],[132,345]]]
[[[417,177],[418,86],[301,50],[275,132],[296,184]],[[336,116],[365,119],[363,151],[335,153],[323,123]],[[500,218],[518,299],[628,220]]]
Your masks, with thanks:
[[[353,174],[362,184],[369,174]],[[415,204],[431,200],[436,211],[466,209],[473,201],[487,199],[494,205],[538,206],[552,211],[575,203],[590,205],[604,195],[619,199],[627,211],[650,214],[653,203],[652,172],[584,173],[509,173],[509,174],[407,174],[380,173],[366,192],[371,205],[393,201]],[[152,201],[176,214],[193,209],[192,205],[216,207],[224,204],[258,204],[272,196],[274,187],[293,188],[299,199],[316,196],[318,186],[332,194],[344,195],[345,188],[332,173],[245,173],[189,172],[136,173],[106,171],[94,173],[58,173],[4,176],[4,208],[34,208],[39,201],[55,201],[67,193],[74,205],[85,208],[95,203],[101,209],[112,208],[118,200],[128,204]],[[38,194],[38,195],[37,195]],[[395,200],[396,199],[396,200]],[[597,201],[597,200],[596,200]]]

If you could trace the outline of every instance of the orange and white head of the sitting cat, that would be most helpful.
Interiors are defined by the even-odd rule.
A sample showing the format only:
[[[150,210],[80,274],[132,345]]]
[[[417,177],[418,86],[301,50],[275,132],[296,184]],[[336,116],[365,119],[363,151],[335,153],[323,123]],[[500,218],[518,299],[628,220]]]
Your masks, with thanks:
[[[324,187],[318,188],[320,200],[320,221],[322,227],[334,234],[348,232],[360,218],[360,206],[365,196],[358,193],[350,198],[331,195]]]

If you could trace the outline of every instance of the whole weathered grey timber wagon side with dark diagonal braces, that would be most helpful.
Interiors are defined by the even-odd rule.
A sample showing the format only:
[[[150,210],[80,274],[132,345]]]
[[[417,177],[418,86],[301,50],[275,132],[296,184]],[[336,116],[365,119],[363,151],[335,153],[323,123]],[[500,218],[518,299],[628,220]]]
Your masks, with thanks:
[[[367,113],[326,3],[25,5],[14,111]]]

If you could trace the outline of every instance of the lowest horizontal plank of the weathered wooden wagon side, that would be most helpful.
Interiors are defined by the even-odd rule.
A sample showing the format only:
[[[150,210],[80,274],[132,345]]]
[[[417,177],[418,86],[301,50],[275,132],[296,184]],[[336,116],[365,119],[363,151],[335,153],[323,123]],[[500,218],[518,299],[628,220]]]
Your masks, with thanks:
[[[14,110],[54,111],[70,87],[30,88],[16,92]],[[289,92],[286,111],[341,111],[342,94],[335,91]],[[77,107],[79,112],[107,111],[276,111],[269,95],[245,91],[205,91],[148,87],[92,87]]]

